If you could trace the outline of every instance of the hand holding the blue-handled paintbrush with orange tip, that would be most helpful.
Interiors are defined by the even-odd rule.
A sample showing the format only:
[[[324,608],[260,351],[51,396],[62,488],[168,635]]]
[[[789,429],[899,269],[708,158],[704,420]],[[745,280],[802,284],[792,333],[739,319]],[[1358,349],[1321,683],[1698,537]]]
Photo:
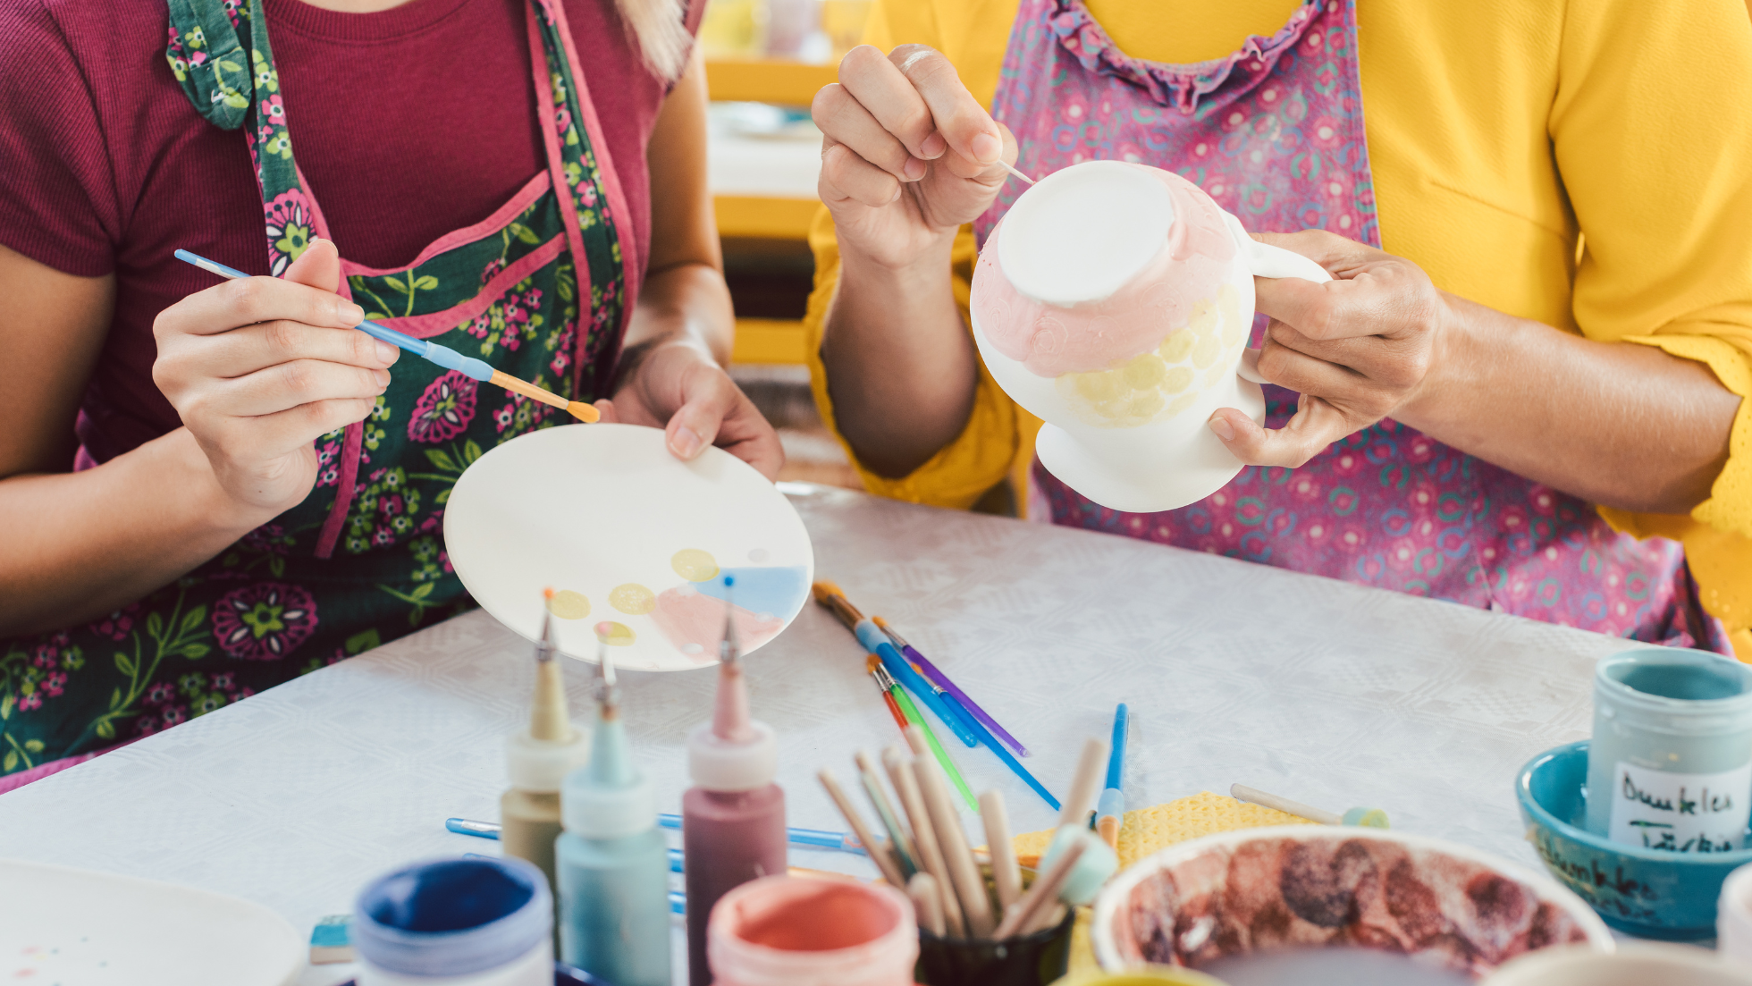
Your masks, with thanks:
[[[399,350],[354,331],[364,310],[335,294],[340,254],[312,240],[286,277],[228,280],[152,324],[152,380],[245,513],[268,520],[310,496],[314,441],[364,420]]]

